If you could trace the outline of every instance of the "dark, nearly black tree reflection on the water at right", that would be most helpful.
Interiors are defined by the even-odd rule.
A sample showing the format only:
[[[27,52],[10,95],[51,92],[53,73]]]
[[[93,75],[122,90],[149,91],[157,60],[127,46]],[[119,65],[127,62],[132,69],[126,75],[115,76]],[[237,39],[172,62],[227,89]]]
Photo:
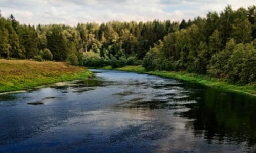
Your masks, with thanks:
[[[208,143],[218,140],[246,142],[248,146],[256,143],[256,106],[255,98],[234,93],[221,93],[212,88],[194,93],[191,97],[201,98],[187,112],[181,112],[181,117],[195,119],[194,135],[207,139]],[[204,131],[203,133],[201,131]]]

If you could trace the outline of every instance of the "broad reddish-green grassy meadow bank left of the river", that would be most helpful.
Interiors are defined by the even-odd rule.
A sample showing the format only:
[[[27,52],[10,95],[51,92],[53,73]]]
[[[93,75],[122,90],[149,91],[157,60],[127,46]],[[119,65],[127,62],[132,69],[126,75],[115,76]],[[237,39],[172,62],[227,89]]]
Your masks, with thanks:
[[[0,92],[27,90],[90,75],[87,68],[68,66],[63,62],[0,59]]]

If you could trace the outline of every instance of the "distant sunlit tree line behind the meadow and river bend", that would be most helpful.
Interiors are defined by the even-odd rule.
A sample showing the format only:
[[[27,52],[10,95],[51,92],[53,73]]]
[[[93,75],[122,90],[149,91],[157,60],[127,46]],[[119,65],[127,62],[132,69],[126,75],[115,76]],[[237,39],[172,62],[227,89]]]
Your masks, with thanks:
[[[39,59],[50,51],[52,60],[66,61],[70,54],[93,52],[105,59],[143,59],[154,43],[179,28],[178,22],[108,22],[63,24],[20,24],[13,15],[0,16],[0,56],[3,58]],[[90,53],[89,53],[90,54]],[[44,58],[42,58],[44,59]]]

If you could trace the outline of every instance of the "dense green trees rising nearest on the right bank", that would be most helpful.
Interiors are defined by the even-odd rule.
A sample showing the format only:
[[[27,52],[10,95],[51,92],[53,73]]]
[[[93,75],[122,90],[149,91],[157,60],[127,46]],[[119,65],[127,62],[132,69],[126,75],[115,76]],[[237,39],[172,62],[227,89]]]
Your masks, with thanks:
[[[143,66],[147,70],[208,74],[233,83],[255,82],[255,21],[255,6],[237,11],[227,6],[219,15],[214,12],[198,17],[189,27],[168,33],[155,44]]]

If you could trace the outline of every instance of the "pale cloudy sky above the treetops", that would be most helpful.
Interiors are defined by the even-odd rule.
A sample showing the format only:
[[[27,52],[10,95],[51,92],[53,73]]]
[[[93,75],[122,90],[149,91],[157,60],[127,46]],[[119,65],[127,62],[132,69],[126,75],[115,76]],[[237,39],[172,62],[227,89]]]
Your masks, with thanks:
[[[233,9],[255,5],[256,0],[0,0],[4,17],[13,14],[25,24],[78,22],[152,21],[194,19],[208,12],[220,13],[227,5]]]

